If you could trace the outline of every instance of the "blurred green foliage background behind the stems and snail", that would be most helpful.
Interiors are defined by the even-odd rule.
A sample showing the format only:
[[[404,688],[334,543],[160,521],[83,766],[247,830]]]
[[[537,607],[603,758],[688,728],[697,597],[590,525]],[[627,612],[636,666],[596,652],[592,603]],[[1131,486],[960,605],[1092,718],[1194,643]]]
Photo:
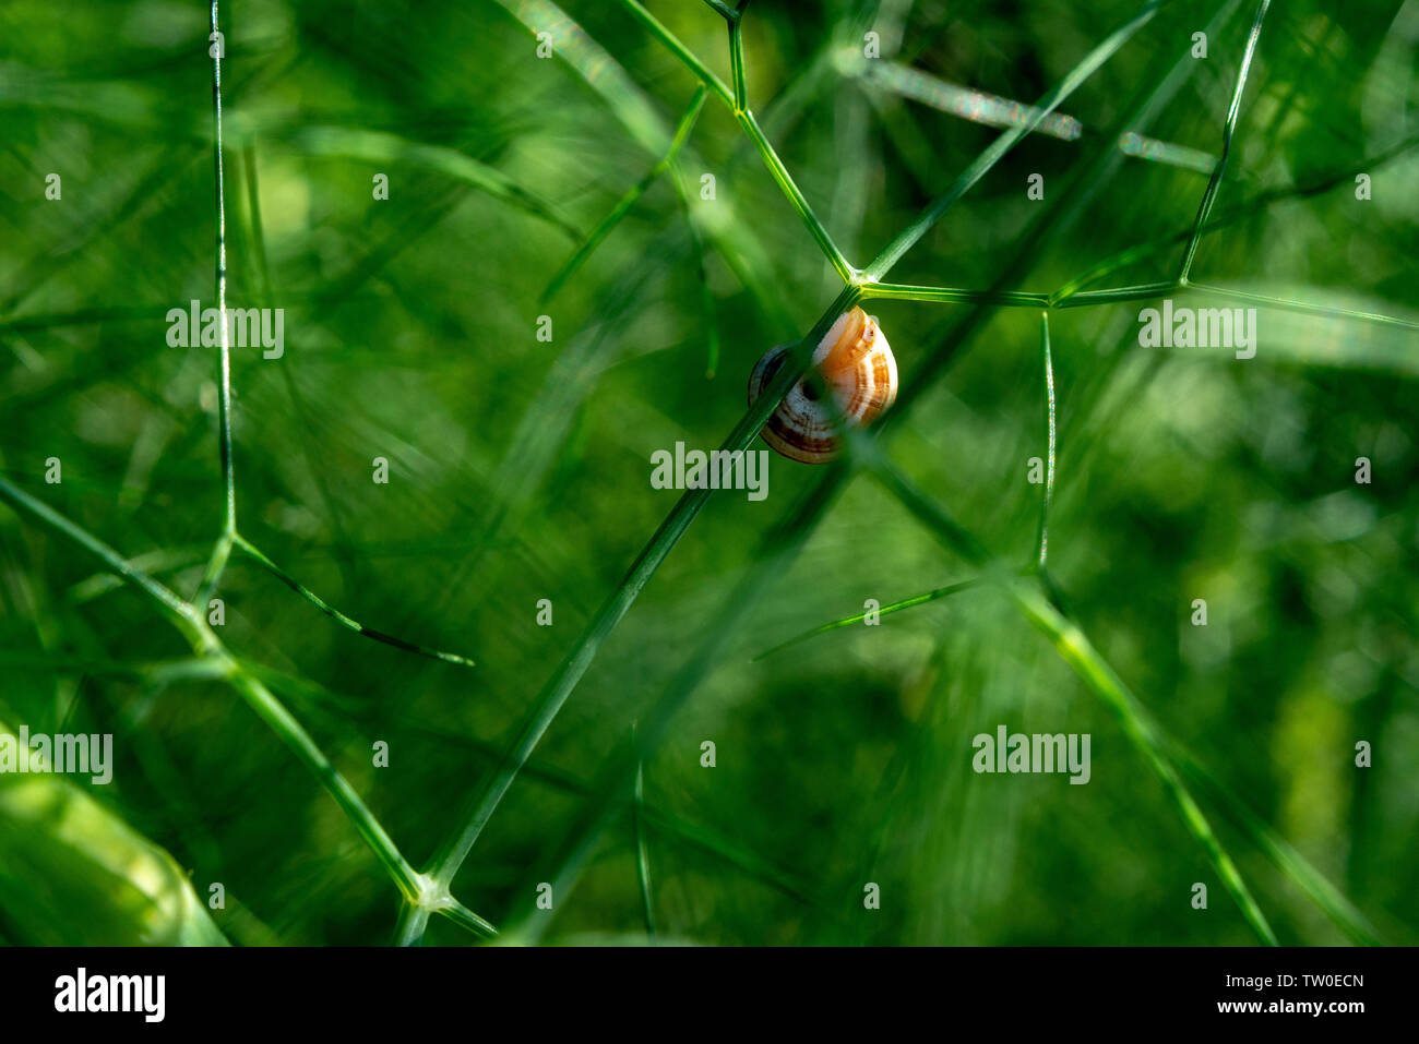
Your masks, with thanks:
[[[688,0],[651,7],[728,79],[719,16]],[[864,77],[863,27],[880,33],[883,61],[1032,102],[1138,7],[752,0],[751,104],[833,238],[866,264],[998,132]],[[688,203],[668,173],[654,180],[543,304],[579,245],[572,230],[592,230],[660,160],[695,88],[619,3],[568,0],[589,40],[549,24],[569,45],[539,60],[535,26],[514,11],[535,23],[556,10],[223,4],[228,301],[284,308],[287,338],[280,360],[233,353],[241,532],[349,616],[477,667],[366,641],[240,555],[219,631],[420,868],[673,506],[677,494],[648,485],[650,454],[718,445],[753,362],[806,332],[837,291],[711,99],[680,157]],[[1208,57],[1137,128],[1216,156],[1252,4],[1165,4],[1061,106],[1083,135],[1026,138],[891,278],[983,289],[1019,258],[1010,288],[1049,292],[1144,244],[1156,250],[1097,287],[1172,278],[1206,174],[1121,157],[1078,194],[1064,186],[1112,148],[1111,129],[1218,10]],[[169,308],[214,304],[206,17],[170,0],[0,9],[0,475],[184,597],[223,522],[216,353],[165,339]],[[1416,40],[1412,0],[1273,6],[1218,203],[1227,224],[1203,238],[1196,279],[1416,318],[1419,160],[1405,148],[1419,133]],[[48,173],[62,177],[60,200],[45,199]],[[387,200],[372,196],[376,173]],[[705,173],[714,200],[701,199]],[[1042,201],[1026,196],[1032,173],[1044,176]],[[1355,173],[1371,176],[1371,200],[1357,200]],[[1059,234],[1034,241],[1032,223],[1054,207]],[[1139,306],[1050,316],[1049,565],[1061,604],[1166,731],[1382,939],[1413,943],[1419,336],[1261,309],[1259,353],[1239,362],[1139,348]],[[1023,566],[1040,496],[1026,461],[1044,451],[1037,315],[871,311],[904,373],[978,321],[884,450]],[[535,336],[541,315],[549,343]],[[58,485],[44,481],[54,457]],[[370,481],[376,457],[387,485]],[[1368,485],[1355,482],[1358,457],[1372,462]],[[454,882],[468,906],[497,923],[526,902],[590,780],[732,584],[782,567],[755,548],[813,478],[775,458],[766,501],[711,499],[480,838]],[[148,845],[140,834],[197,895],[221,882],[227,908],[211,915],[233,942],[387,940],[397,894],[318,780],[228,687],[160,670],[190,650],[102,570],[0,511],[0,716],[115,735],[114,783],[65,799],[95,824],[70,843],[106,848],[99,861],[121,872],[115,853]],[[962,579],[858,478],[768,594],[742,606],[731,654],[644,769],[661,936],[1253,940],[1158,779],[998,593],[753,660],[866,599]],[[1206,627],[1189,623],[1199,597]],[[535,623],[539,599],[552,600],[551,627]],[[971,739],[1000,723],[1091,733],[1091,782],[975,774]],[[701,767],[707,739],[714,769]],[[376,740],[389,767],[372,766]],[[1372,767],[1355,767],[1358,740]],[[1250,834],[1215,821],[1281,942],[1344,939]],[[96,923],[104,885],[34,906],[37,921],[38,885],[27,894],[30,878],[7,872],[18,854],[79,860],[53,850],[58,830],[0,803],[7,940],[71,940]],[[863,908],[868,881],[878,911]],[[1206,911],[1191,906],[1196,881]],[[190,896],[180,878],[170,888]],[[553,938],[644,931],[629,818],[558,911]],[[468,939],[437,921],[429,938]]]

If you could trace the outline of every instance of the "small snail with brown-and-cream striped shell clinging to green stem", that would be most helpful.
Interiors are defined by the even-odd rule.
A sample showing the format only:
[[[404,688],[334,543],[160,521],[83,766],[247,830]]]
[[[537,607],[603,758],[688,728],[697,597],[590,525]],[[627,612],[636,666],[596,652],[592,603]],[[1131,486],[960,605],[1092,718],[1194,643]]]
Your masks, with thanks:
[[[755,365],[749,374],[751,406],[789,359],[792,348],[771,348]],[[813,365],[850,424],[871,423],[897,399],[897,360],[877,319],[861,308],[837,316],[813,352]],[[837,455],[840,444],[833,420],[833,413],[817,401],[812,382],[805,379],[783,397],[761,434],[789,460],[823,464]]]

